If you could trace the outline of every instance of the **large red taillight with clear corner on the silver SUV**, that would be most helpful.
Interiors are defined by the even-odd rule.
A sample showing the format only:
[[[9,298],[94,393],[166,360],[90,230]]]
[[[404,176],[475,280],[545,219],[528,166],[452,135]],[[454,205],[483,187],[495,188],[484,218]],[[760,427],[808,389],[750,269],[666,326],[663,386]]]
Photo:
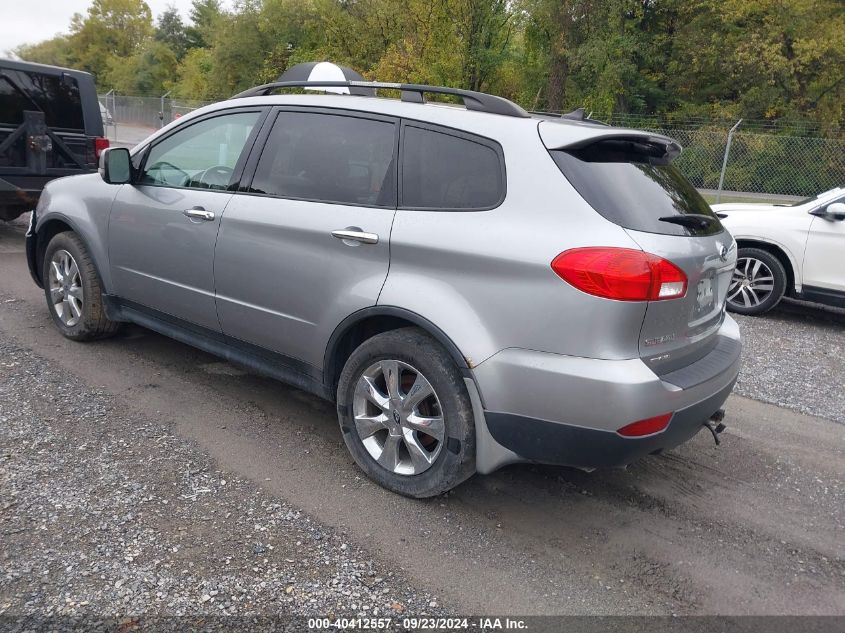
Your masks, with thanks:
[[[631,248],[573,248],[554,258],[552,270],[578,290],[605,299],[662,301],[687,293],[684,271]]]

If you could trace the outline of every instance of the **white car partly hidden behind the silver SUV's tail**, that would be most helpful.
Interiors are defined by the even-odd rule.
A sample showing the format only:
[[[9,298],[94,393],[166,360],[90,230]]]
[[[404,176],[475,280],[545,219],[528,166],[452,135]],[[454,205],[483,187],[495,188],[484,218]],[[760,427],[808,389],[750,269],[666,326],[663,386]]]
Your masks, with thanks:
[[[845,307],[845,187],[792,204],[716,204],[737,242],[728,309],[757,315],[788,297]]]

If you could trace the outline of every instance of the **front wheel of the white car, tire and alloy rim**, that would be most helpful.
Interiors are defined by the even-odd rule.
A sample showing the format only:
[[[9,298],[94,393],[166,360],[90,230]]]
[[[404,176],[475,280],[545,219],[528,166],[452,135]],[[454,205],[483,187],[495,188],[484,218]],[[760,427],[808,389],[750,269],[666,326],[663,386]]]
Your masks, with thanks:
[[[786,292],[786,270],[777,257],[759,248],[740,248],[728,287],[728,309],[756,316],[774,308]]]

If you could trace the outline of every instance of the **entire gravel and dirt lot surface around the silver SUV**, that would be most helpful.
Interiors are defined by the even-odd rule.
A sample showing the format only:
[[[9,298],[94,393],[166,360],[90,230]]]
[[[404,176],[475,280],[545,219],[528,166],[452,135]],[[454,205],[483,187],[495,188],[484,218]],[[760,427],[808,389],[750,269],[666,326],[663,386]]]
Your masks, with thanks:
[[[412,501],[325,402],[140,328],[63,339],[21,225],[0,271],[0,613],[845,615],[842,313],[742,320],[721,447]]]

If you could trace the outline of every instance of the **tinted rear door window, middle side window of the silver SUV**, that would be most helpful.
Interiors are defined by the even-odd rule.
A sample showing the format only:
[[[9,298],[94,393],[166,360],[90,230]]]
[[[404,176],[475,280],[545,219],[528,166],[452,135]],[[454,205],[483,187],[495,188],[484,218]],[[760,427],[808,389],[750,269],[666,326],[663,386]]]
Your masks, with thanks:
[[[395,125],[319,112],[280,112],[250,191],[394,207]]]

